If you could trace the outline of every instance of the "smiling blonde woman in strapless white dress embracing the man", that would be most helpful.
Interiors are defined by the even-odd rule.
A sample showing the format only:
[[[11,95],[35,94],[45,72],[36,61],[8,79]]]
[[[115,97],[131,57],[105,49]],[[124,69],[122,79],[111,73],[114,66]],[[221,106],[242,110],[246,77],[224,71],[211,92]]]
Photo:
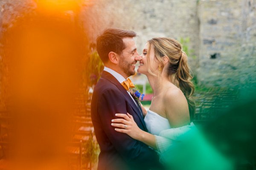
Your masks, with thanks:
[[[115,130],[156,150],[167,168],[232,169],[229,161],[204,140],[192,123],[194,85],[180,43],[172,38],[153,38],[146,43],[141,57],[138,72],[148,77],[153,90],[149,110],[143,108],[148,132],[141,130],[129,113],[116,114],[120,119],[111,123]]]

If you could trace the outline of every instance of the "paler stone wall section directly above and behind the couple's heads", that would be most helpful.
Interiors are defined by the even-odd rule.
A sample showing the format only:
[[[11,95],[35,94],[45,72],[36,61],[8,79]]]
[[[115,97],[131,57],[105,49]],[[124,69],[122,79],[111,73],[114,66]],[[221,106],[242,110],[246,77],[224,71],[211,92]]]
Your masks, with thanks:
[[[94,0],[81,12],[84,27],[93,32],[95,41],[100,31],[109,27],[134,30],[138,33],[137,47],[140,52],[153,37],[172,37],[177,40],[189,37],[192,55],[198,56],[199,23],[197,0]],[[190,57],[193,70],[195,59]]]

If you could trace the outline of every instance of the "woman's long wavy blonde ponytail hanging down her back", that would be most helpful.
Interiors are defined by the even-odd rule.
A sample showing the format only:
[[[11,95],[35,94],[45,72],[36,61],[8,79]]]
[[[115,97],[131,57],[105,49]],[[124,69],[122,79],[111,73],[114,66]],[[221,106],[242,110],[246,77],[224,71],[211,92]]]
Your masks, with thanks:
[[[193,119],[194,113],[195,113],[195,101],[192,98],[192,94],[195,91],[195,87],[193,83],[191,82],[191,79],[193,78],[190,74],[190,68],[188,65],[188,57],[185,52],[181,52],[181,57],[179,60],[179,65],[177,68],[177,72],[175,74],[175,80],[177,82],[177,86],[180,88],[180,90],[185,95],[188,104],[189,104],[189,115],[190,119]]]

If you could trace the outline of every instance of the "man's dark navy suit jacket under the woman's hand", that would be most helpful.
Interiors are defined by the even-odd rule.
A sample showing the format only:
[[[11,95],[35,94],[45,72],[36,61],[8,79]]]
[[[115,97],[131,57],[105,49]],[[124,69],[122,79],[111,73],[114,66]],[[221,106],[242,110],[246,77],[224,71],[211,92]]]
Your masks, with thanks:
[[[117,118],[115,113],[129,113],[140,129],[147,131],[141,112],[117,79],[103,71],[91,103],[91,117],[101,150],[98,170],[161,169],[154,150],[111,126],[111,119]]]

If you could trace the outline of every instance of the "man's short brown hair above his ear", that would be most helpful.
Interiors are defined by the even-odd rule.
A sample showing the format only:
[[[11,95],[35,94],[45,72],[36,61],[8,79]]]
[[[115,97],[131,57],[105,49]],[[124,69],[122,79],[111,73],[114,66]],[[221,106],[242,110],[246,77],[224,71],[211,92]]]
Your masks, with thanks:
[[[111,51],[117,54],[122,54],[122,51],[125,49],[125,43],[122,40],[123,38],[133,38],[136,36],[137,34],[134,31],[119,28],[105,29],[103,33],[99,35],[96,42],[96,48],[102,62],[108,61],[108,54]]]

